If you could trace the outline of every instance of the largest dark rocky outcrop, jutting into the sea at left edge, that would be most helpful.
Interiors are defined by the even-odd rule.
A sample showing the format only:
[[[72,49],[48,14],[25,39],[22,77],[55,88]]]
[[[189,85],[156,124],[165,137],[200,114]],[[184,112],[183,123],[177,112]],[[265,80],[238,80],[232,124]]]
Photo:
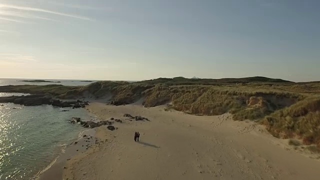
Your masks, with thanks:
[[[5,96],[0,97],[0,102],[11,102],[15,104],[21,104],[25,106],[34,106],[48,104],[56,107],[85,107],[88,105],[88,101],[61,101],[58,99],[52,99],[50,96],[45,94],[36,94],[36,95],[21,95],[21,96]]]

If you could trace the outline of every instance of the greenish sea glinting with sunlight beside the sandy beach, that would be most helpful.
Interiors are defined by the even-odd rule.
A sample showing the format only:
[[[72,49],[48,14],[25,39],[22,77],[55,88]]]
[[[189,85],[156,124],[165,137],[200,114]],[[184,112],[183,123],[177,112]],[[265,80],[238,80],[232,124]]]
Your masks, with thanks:
[[[20,80],[30,79],[0,79],[0,85],[87,85],[92,83],[61,79],[45,79],[61,81],[60,83],[31,83]],[[11,95],[23,94],[0,92],[0,96]],[[69,111],[62,111],[63,109]],[[71,117],[91,118],[83,108],[0,103],[0,179],[32,179],[50,164],[84,130],[78,124],[68,123],[67,120]]]

